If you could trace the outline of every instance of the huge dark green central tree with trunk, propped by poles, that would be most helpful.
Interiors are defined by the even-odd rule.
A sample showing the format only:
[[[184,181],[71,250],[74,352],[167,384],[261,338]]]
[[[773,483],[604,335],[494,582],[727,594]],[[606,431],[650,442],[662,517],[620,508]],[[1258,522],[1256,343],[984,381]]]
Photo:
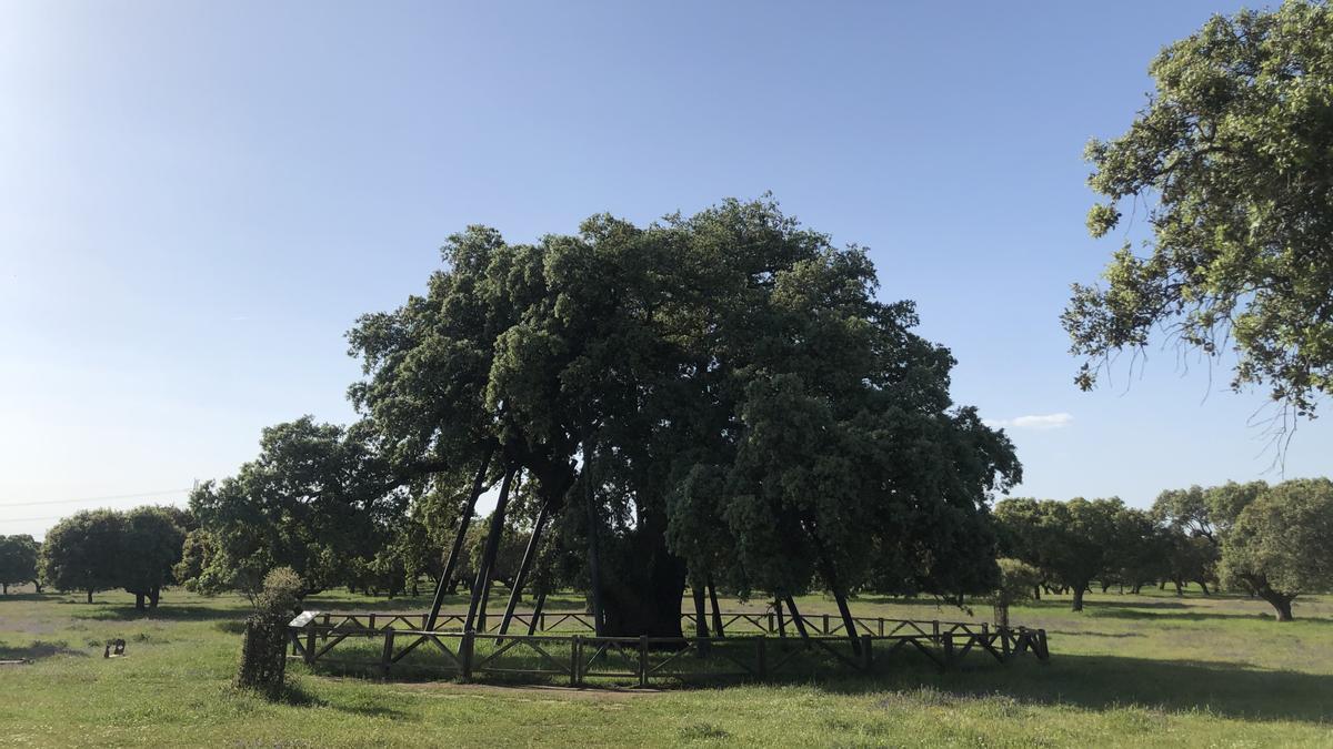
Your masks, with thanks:
[[[533,244],[472,227],[444,259],[349,333],[352,400],[401,476],[521,468],[599,569],[605,630],[678,634],[686,576],[993,588],[1012,445],[954,406],[952,356],[876,300],[862,249],[726,201]]]

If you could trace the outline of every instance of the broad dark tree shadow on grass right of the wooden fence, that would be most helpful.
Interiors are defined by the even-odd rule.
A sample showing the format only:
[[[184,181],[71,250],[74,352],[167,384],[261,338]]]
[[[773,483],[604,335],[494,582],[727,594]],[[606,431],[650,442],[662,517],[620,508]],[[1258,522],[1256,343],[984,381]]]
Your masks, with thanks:
[[[958,700],[996,696],[1025,704],[1109,710],[1137,705],[1249,721],[1333,724],[1333,676],[1258,670],[1237,662],[1064,656],[1049,664],[968,664],[960,670],[889,666],[880,677],[828,682],[829,692],[869,693],[933,688]]]

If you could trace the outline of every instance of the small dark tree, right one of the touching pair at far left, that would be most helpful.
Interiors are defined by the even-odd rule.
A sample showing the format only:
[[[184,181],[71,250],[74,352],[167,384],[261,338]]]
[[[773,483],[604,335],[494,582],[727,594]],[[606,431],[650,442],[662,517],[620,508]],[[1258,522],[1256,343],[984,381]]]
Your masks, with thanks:
[[[161,589],[176,581],[172,568],[181,561],[185,530],[180,512],[143,506],[124,514],[117,573],[120,585],[135,594],[135,606],[157,608]]]

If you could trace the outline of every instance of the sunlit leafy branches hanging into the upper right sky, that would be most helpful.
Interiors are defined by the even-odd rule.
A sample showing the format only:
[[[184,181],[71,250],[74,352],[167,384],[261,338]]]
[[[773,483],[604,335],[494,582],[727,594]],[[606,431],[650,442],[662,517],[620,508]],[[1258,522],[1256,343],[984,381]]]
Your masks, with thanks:
[[[1161,327],[1206,356],[1234,352],[1233,388],[1265,384],[1284,414],[1310,414],[1333,392],[1333,11],[1214,16],[1149,72],[1157,91],[1129,131],[1086,151],[1106,199],[1093,236],[1133,201],[1153,239],[1146,256],[1114,255],[1105,288],[1074,284],[1077,381],[1090,388]]]

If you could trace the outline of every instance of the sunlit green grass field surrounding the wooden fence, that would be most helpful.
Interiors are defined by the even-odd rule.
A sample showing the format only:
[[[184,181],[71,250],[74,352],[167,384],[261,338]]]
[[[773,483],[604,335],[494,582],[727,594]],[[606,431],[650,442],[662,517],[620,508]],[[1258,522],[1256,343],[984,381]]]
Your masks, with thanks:
[[[324,594],[309,606],[421,610],[427,601]],[[724,605],[746,608],[762,605]],[[820,597],[801,608],[834,610]],[[1048,630],[1048,665],[969,657],[938,673],[902,657],[873,678],[639,692],[383,682],[293,662],[289,698],[269,704],[229,686],[241,598],[171,590],[145,616],[123,593],[92,605],[11,593],[0,597],[0,660],[32,662],[0,666],[0,744],[1333,746],[1333,597],[1298,600],[1298,621],[1281,625],[1260,601],[1193,592],[1094,594],[1084,613],[1066,609],[1048,600],[1012,613],[1013,624]],[[880,597],[853,610],[989,613]],[[128,641],[128,657],[104,660],[115,637]]]

